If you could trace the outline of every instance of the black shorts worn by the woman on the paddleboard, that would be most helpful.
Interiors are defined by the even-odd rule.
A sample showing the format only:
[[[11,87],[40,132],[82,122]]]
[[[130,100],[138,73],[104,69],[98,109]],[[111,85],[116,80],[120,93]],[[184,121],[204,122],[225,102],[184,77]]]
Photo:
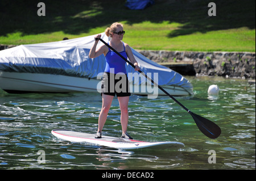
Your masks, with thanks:
[[[129,81],[126,74],[104,72],[101,83],[101,95],[130,96]]]

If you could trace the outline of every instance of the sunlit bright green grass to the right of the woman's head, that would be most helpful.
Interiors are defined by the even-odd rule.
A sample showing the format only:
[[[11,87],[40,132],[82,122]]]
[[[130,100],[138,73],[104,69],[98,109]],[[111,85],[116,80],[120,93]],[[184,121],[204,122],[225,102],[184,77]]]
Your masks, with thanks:
[[[168,24],[167,27],[160,23],[150,22],[148,22],[148,27],[152,29],[139,24],[133,27],[126,26],[127,34],[124,41],[136,49],[255,52],[255,29],[242,27],[168,37],[170,29],[175,30],[175,26],[176,24]]]

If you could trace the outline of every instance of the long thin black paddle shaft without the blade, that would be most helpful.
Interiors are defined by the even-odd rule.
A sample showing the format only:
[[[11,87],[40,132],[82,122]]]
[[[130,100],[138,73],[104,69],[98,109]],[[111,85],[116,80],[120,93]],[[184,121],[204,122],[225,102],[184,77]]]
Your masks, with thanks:
[[[121,58],[123,58],[123,60],[125,60],[128,64],[130,64],[134,69],[135,66],[128,61],[125,57],[122,56],[122,54],[118,53],[117,50],[115,50],[114,48],[112,48],[108,43],[106,43],[104,40],[102,39],[98,39],[96,38],[96,40],[100,40],[102,43],[104,43],[107,47],[109,47],[110,49],[113,50],[113,52],[117,53]],[[158,88],[160,90],[162,90],[166,95],[168,95],[170,98],[172,98],[177,104],[179,104],[184,110],[186,110],[187,112],[189,112],[188,108],[186,108],[185,106],[183,106],[183,104],[181,104],[179,101],[177,101],[177,99],[174,98],[174,96],[170,95],[166,90],[163,89],[163,87],[159,86],[157,83],[155,83],[150,77],[148,77],[146,74],[143,73],[143,71],[139,70],[139,73],[141,73],[142,75],[144,75],[144,77],[146,77],[149,81],[151,81],[152,83],[154,83],[155,86],[158,86]]]

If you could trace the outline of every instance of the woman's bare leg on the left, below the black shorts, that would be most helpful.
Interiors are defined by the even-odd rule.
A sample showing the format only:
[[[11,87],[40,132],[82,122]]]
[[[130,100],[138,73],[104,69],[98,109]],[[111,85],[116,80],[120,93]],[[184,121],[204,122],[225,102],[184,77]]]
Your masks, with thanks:
[[[98,131],[102,131],[106,119],[108,117],[109,109],[112,104],[114,96],[102,94],[102,108],[100,115],[98,116]]]

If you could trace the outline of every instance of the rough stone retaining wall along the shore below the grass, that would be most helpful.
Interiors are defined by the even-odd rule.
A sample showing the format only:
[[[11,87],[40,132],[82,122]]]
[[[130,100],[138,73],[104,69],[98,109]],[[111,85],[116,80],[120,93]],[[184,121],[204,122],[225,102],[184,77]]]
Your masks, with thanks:
[[[15,45],[0,45],[0,50],[11,47]],[[182,75],[255,79],[255,52],[137,51]]]

